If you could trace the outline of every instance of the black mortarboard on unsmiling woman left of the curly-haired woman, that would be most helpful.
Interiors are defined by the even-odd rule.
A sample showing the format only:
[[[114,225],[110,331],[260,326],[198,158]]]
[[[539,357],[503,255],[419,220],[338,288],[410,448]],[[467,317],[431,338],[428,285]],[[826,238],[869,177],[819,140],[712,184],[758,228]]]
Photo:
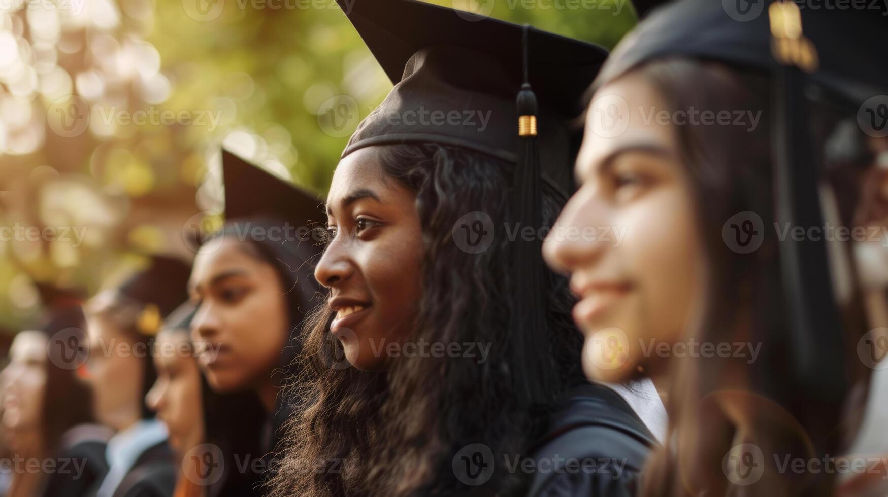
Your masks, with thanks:
[[[222,150],[225,215],[234,219],[276,218],[305,226],[320,217],[321,198]]]

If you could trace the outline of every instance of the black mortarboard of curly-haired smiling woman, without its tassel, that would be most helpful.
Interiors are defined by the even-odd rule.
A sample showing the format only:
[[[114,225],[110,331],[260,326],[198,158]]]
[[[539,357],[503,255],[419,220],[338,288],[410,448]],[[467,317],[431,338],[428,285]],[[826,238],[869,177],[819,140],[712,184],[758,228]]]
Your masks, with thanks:
[[[573,162],[583,133],[576,118],[605,49],[414,0],[340,4],[344,10],[347,4],[348,19],[395,83],[361,122],[344,157],[363,146],[438,143],[519,162],[515,99],[527,82],[539,102],[543,177],[561,193],[573,192]],[[436,112],[444,123],[432,122]],[[458,119],[448,121],[451,112]],[[486,126],[479,112],[489,112]],[[409,113],[416,121],[424,113],[428,124],[414,122]]]

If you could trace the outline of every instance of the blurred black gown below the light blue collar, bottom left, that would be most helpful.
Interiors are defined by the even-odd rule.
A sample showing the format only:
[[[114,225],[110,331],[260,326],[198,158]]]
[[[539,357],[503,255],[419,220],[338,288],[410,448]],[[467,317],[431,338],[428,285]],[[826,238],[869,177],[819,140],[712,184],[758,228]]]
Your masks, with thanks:
[[[164,440],[139,455],[117,485],[114,497],[171,497],[177,477],[172,451]]]

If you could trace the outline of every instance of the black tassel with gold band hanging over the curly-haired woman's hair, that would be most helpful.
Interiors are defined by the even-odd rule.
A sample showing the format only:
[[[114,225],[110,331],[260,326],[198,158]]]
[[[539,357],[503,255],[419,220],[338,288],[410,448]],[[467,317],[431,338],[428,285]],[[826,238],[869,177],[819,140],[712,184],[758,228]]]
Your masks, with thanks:
[[[514,226],[522,230],[525,226],[538,233],[543,224],[542,198],[540,193],[540,149],[536,136],[536,95],[528,82],[527,69],[527,38],[529,27],[524,26],[522,51],[524,57],[524,83],[516,99],[518,110],[519,153],[518,164],[512,185],[512,216]],[[520,233],[520,232],[517,232]],[[518,358],[529,357],[531,354],[545,353],[544,343],[546,327],[543,310],[545,307],[544,268],[542,256],[543,242],[538,236],[524,240],[519,237],[513,242],[513,267],[515,268],[514,289],[516,292],[515,312],[512,314],[511,329],[513,336],[520,337],[522,342],[514,343]],[[541,348],[543,347],[543,348]],[[530,360],[519,360],[519,364],[533,364]],[[511,372],[517,382],[517,391],[524,391],[528,404],[542,403],[551,389],[543,388],[531,391],[532,385],[539,385],[540,379],[546,378],[545,372],[522,371]],[[525,380],[527,378],[527,380]]]

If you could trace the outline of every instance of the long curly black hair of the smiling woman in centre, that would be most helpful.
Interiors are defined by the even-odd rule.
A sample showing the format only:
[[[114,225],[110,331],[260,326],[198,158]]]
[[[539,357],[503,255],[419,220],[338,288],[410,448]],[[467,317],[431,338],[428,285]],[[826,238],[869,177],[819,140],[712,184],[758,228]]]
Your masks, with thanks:
[[[416,192],[423,226],[423,295],[410,340],[489,343],[489,357],[402,357],[376,373],[340,367],[336,359],[345,354],[329,334],[331,312],[318,307],[306,319],[300,376],[287,390],[305,404],[289,422],[269,494],[520,494],[527,476],[509,472],[503,457],[527,457],[556,399],[584,381],[567,279],[547,272],[548,326],[532,337],[538,349],[517,351],[522,341],[508,323],[516,308],[511,289],[520,281],[503,228],[513,166],[450,146],[381,148],[384,173]],[[554,222],[563,202],[543,187],[543,225]],[[494,244],[479,254],[458,248],[451,234],[473,211],[495,223]],[[522,368],[539,372],[528,377],[545,388],[516,384]],[[545,398],[524,393],[535,390]],[[483,485],[465,485],[455,474],[456,453],[471,444],[488,446],[495,457]]]

